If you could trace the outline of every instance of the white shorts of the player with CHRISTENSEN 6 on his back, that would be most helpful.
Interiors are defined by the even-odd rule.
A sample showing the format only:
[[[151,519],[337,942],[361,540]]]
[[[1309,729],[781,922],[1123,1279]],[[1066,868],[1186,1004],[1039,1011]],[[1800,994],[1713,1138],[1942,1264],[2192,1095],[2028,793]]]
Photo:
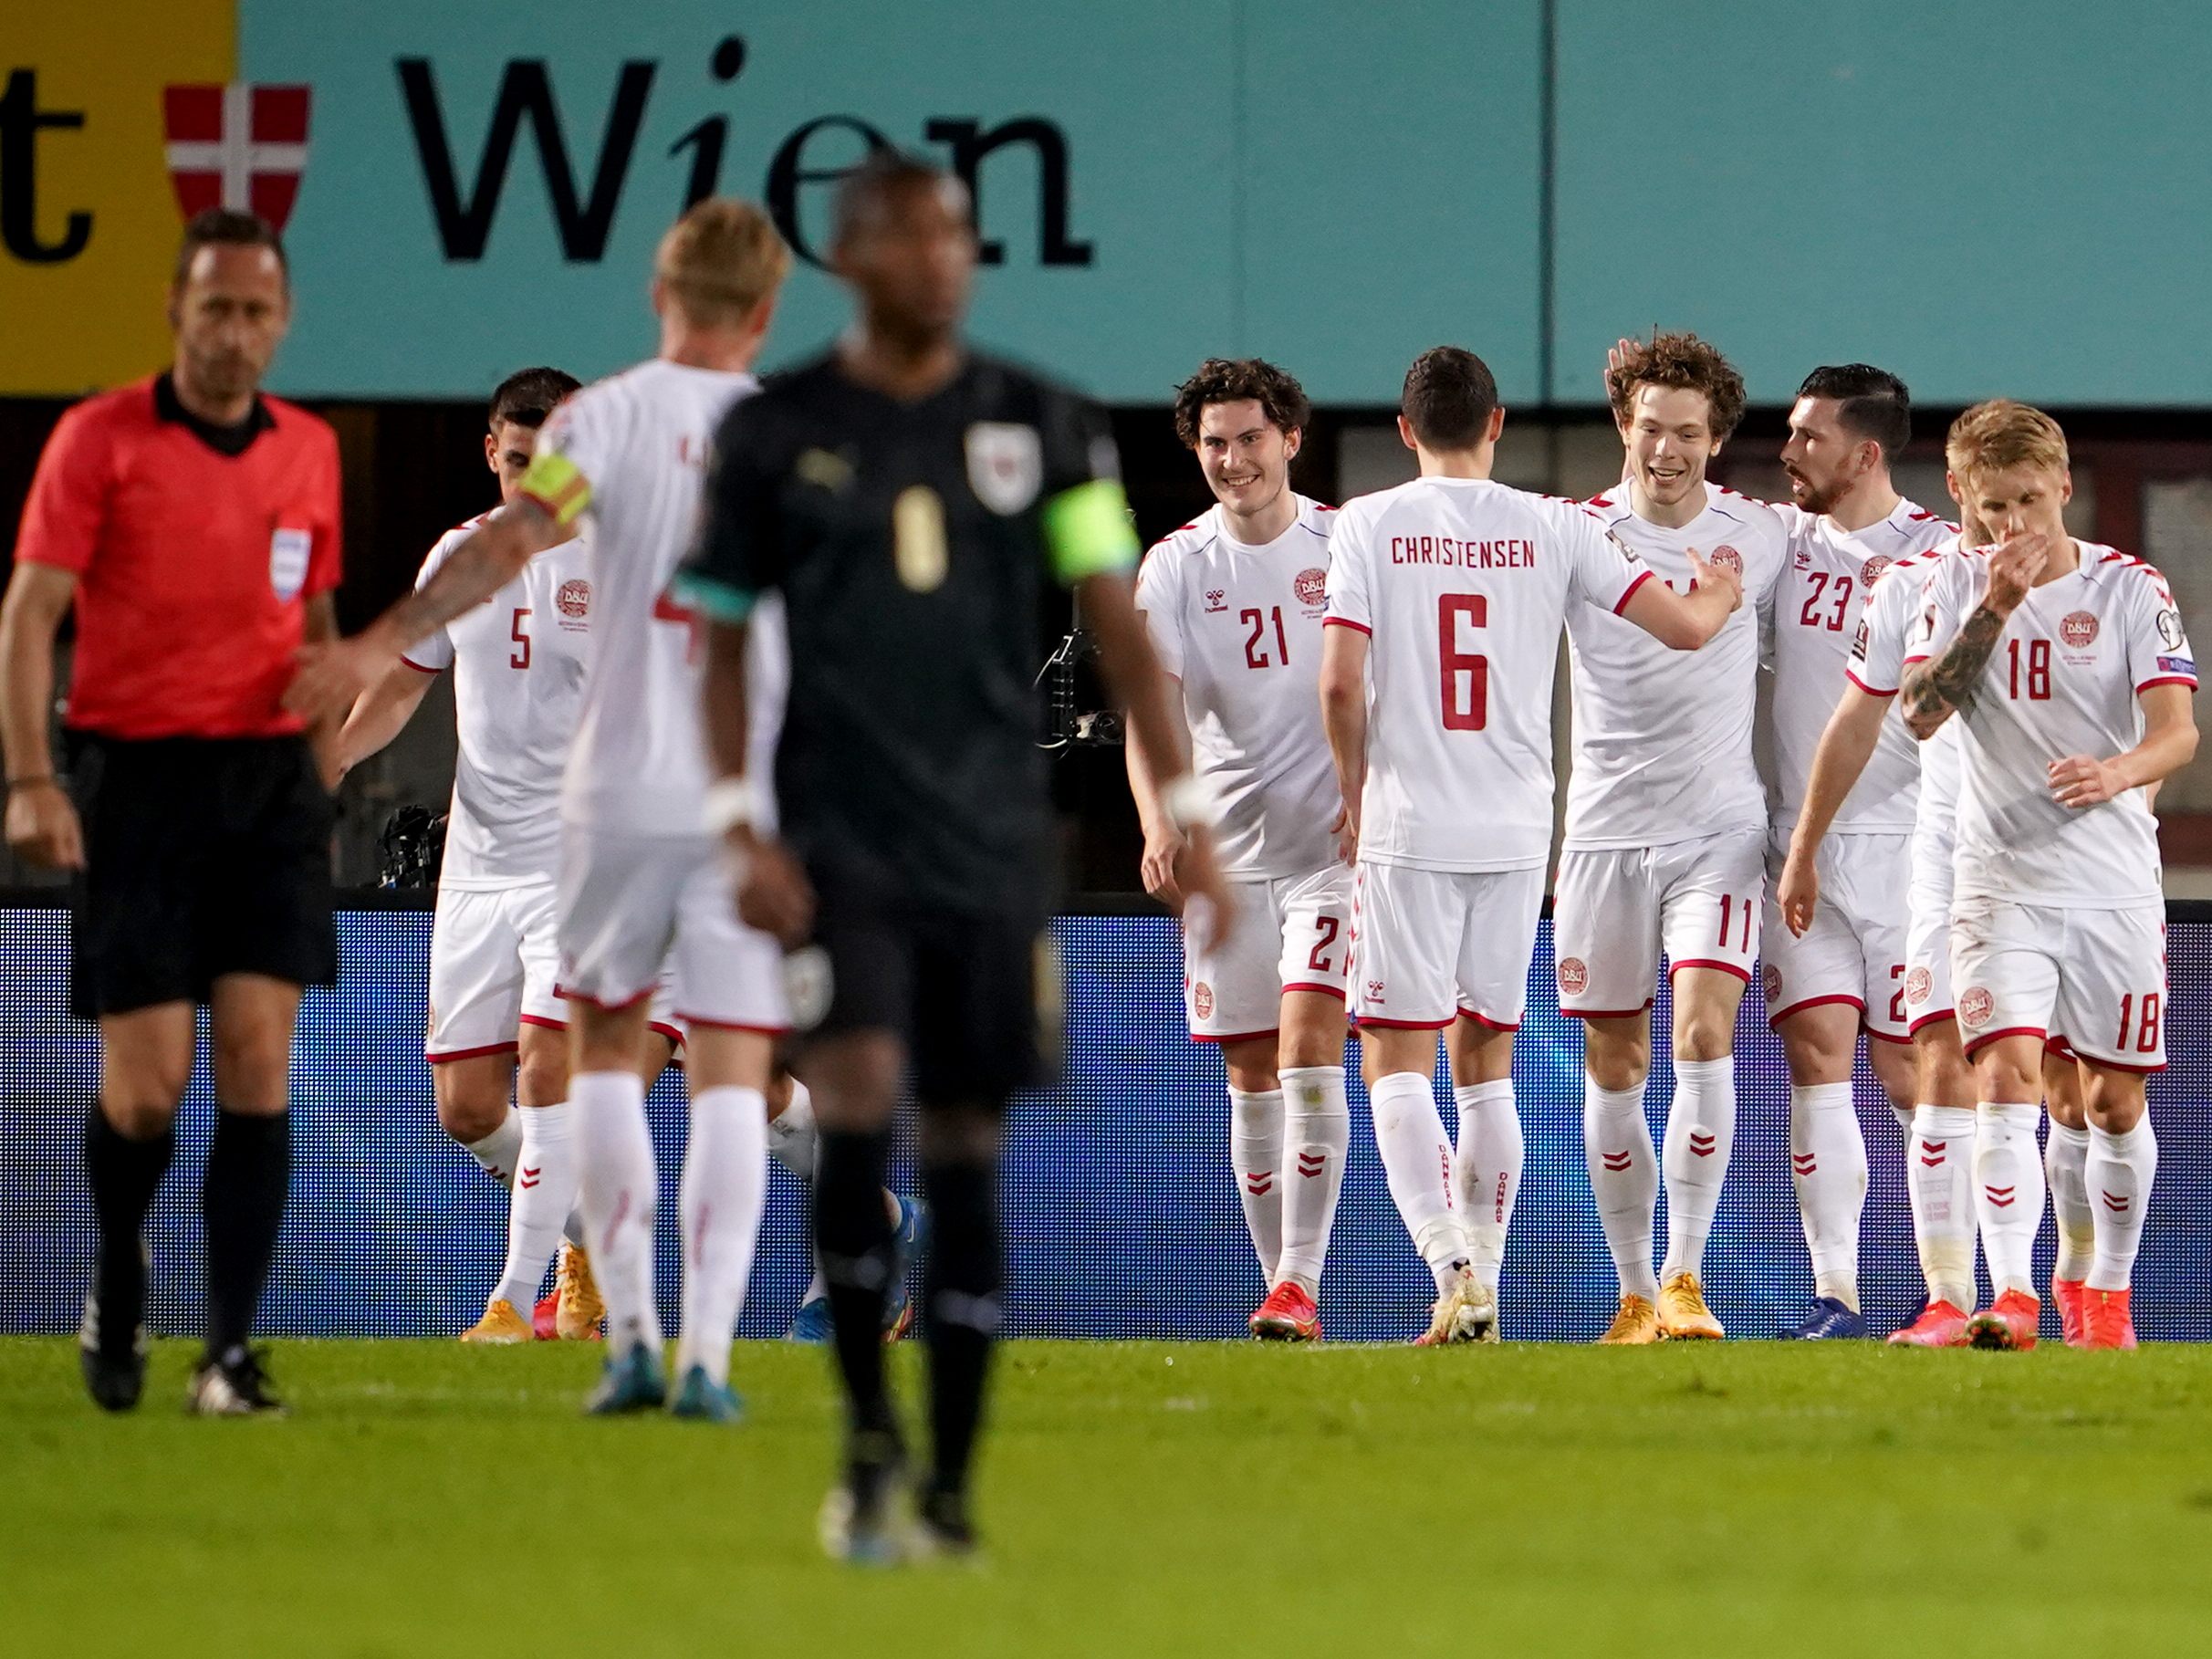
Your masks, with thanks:
[[[1363,863],[1352,1013],[1363,1026],[1442,1031],[1464,1015],[1517,1031],[1544,914],[1544,865],[1416,869]]]

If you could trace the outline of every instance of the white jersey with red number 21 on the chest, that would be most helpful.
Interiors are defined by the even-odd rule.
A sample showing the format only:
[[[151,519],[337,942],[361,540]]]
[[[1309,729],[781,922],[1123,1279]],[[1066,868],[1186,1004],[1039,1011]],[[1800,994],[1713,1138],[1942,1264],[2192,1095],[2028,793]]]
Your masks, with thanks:
[[[1336,765],[1321,730],[1334,518],[1301,495],[1296,522],[1250,546],[1212,507],[1137,573],[1152,650],[1181,681],[1192,772],[1221,799],[1214,849],[1230,876],[1305,876],[1336,856]]]

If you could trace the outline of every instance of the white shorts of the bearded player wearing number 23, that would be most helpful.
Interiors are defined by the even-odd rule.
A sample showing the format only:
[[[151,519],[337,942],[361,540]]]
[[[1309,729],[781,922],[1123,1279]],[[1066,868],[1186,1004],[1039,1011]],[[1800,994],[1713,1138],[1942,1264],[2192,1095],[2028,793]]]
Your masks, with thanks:
[[[1805,938],[1774,909],[1787,845],[1767,849],[1767,1024],[1801,1009],[1849,1002],[1869,1037],[1911,1042],[1905,1004],[1905,925],[1911,876],[1909,834],[1827,836],[1818,863],[1820,905]]]

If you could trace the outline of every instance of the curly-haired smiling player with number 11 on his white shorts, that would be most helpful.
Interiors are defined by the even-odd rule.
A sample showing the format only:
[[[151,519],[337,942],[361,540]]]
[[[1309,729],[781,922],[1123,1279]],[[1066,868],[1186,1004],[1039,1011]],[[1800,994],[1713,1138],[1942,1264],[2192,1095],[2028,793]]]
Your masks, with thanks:
[[[1719,1338],[1703,1256],[1736,1139],[1736,1006],[1759,960],[1767,803],[1752,761],[1761,637],[1785,535],[1772,509],[1705,480],[1743,416],[1743,376],[1694,334],[1628,341],[1606,372],[1628,449],[1590,502],[1677,593],[1703,553],[1743,580],[1745,606],[1703,650],[1677,653],[1608,604],[1566,613],[1575,763],[1553,900],[1559,1011],[1584,1024],[1584,1159],[1621,1298],[1604,1343]],[[1652,1148],[1644,1086],[1666,953],[1674,993],[1674,1102]],[[1666,1263],[1652,1210],[1668,1194]]]

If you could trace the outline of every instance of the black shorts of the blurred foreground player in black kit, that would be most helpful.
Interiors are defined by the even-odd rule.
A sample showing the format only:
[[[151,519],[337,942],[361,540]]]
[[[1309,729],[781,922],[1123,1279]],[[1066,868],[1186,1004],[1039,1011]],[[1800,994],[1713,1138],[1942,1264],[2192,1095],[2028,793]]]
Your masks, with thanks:
[[[1066,984],[1051,931],[1020,916],[816,889],[830,1011],[812,1035],[894,1031],[925,1108],[998,1106],[1060,1073]]]

